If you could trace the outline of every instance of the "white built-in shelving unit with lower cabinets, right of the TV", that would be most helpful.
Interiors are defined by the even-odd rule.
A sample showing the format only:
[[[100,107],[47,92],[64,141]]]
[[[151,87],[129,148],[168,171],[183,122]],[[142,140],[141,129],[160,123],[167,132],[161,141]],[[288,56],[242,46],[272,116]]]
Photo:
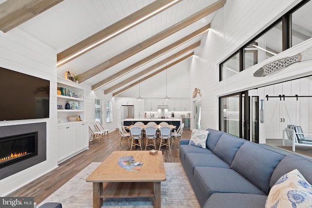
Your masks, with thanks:
[[[63,108],[57,110],[58,161],[61,163],[89,148],[89,123],[84,120],[84,89],[76,82],[58,78],[59,89],[62,95],[57,95],[58,106]],[[71,109],[65,109],[66,103],[73,102],[76,102],[75,109],[73,105]],[[74,116],[80,116],[83,121],[68,120],[68,117]]]

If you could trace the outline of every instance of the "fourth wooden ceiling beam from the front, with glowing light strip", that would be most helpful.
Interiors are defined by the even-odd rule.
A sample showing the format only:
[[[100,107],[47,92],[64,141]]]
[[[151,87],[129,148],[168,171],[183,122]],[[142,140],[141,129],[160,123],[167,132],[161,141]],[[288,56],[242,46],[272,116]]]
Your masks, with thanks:
[[[160,57],[164,54],[166,54],[167,52],[175,49],[176,47],[182,45],[183,43],[186,43],[188,42],[189,40],[193,39],[193,38],[196,38],[198,37],[199,35],[205,33],[206,31],[208,31],[208,29],[210,28],[210,24],[200,28],[199,30],[196,30],[194,33],[191,33],[190,35],[184,37],[184,38],[181,38],[180,40],[174,42],[173,44],[157,51],[156,53],[148,56],[148,57],[145,57],[143,58],[142,60],[138,61],[137,63],[134,63],[132,64],[131,66],[117,72],[116,74],[110,76],[110,77],[107,77],[105,79],[103,79],[102,81],[98,82],[97,84],[93,85],[92,86],[92,90],[97,90],[98,88],[100,87],[103,87],[104,85],[116,80],[117,78],[121,77],[121,76],[124,76],[130,72],[132,72],[133,70],[137,69],[138,67],[154,60],[155,58],[157,57]]]

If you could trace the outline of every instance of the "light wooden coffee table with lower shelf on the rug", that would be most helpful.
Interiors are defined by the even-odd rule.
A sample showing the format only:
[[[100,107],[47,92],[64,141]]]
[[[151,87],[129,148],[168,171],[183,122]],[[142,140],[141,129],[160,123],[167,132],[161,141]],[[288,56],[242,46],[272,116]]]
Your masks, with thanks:
[[[140,171],[126,171],[117,162],[122,156],[133,156],[143,163]],[[93,208],[100,208],[105,198],[153,198],[154,208],[160,208],[160,182],[166,180],[162,152],[114,151],[86,179],[93,183]]]

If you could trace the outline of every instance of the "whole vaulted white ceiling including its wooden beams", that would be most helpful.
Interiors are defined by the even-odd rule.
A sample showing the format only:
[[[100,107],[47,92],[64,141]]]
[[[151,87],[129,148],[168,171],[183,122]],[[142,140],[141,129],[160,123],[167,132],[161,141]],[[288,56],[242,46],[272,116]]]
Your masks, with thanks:
[[[0,0],[0,30],[57,51],[58,76],[118,95],[191,57],[226,0]]]

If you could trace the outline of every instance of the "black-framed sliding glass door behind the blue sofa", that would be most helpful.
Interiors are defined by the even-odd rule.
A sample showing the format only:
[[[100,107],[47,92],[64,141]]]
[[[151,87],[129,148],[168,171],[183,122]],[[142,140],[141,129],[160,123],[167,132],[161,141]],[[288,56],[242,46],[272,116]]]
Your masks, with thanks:
[[[247,139],[250,137],[248,91],[219,98],[219,130]]]

